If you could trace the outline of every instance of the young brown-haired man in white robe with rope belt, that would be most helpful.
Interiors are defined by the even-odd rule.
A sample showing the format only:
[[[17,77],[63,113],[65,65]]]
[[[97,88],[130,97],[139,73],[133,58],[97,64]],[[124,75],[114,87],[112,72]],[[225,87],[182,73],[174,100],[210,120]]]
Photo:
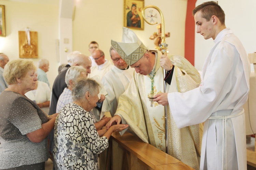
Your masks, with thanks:
[[[215,43],[203,65],[202,83],[185,93],[156,95],[154,101],[163,105],[169,102],[178,128],[204,122],[201,170],[245,170],[243,105],[250,77],[247,53],[226,28],[224,11],[215,1],[197,6],[193,15],[197,33],[204,39],[213,38]]]

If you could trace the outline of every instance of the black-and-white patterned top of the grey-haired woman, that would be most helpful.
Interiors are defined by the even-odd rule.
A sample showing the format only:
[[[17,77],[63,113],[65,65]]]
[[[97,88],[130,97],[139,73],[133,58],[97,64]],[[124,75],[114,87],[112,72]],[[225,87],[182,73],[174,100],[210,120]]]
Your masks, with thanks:
[[[91,114],[75,103],[65,105],[54,125],[55,169],[99,169],[97,154],[108,148]]]

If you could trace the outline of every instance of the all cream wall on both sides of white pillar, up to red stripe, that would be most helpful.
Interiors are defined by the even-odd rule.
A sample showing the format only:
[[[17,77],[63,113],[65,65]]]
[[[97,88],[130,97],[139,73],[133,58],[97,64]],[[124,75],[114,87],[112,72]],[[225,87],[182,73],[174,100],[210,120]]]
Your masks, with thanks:
[[[24,3],[0,0],[0,4],[5,5],[6,15],[6,37],[0,37],[0,53],[8,55],[10,60],[19,58],[18,31],[24,31],[26,27],[29,27],[31,31],[37,31],[39,59],[46,58],[50,61],[47,77],[51,86],[58,74],[58,66],[66,63],[63,57],[58,62],[56,56],[56,39],[60,38],[61,33],[59,6],[56,5],[57,0],[54,1],[55,3],[45,4],[40,1]],[[161,4],[155,0],[146,0],[144,4],[145,6],[156,5],[162,11],[165,17],[166,32],[171,33],[171,37],[166,38],[169,44],[168,50],[173,54],[184,55],[186,4],[187,0],[163,0]],[[89,56],[88,44],[95,40],[99,43],[100,49],[104,51],[106,58],[110,59],[111,39],[122,40],[123,19],[123,0],[76,1],[75,17],[72,23],[72,50],[81,51]],[[160,18],[155,20],[160,23]],[[153,40],[149,37],[157,32],[156,25],[151,26],[145,22],[144,31],[133,31],[149,49],[154,48]],[[63,51],[59,53],[61,55]],[[36,66],[39,59],[33,59]]]

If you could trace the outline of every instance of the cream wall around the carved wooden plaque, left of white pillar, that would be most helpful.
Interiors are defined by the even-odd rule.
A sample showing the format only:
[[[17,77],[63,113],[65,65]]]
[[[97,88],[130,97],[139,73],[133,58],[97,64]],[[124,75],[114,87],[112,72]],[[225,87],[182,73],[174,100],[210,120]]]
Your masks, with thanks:
[[[0,0],[5,5],[6,37],[0,37],[0,53],[5,53],[10,60],[19,58],[18,31],[38,32],[38,59],[32,59],[35,66],[41,58],[50,62],[47,72],[50,85],[53,85],[58,74],[59,64],[56,62],[56,45],[58,39],[59,7],[58,5],[22,3]]]

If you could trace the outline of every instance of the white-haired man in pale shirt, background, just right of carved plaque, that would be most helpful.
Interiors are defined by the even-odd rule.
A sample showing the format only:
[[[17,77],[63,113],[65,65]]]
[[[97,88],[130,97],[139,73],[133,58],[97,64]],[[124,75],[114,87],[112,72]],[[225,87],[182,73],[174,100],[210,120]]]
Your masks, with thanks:
[[[49,61],[42,58],[38,62],[37,79],[38,81],[45,82],[50,87],[46,72],[49,71]]]

